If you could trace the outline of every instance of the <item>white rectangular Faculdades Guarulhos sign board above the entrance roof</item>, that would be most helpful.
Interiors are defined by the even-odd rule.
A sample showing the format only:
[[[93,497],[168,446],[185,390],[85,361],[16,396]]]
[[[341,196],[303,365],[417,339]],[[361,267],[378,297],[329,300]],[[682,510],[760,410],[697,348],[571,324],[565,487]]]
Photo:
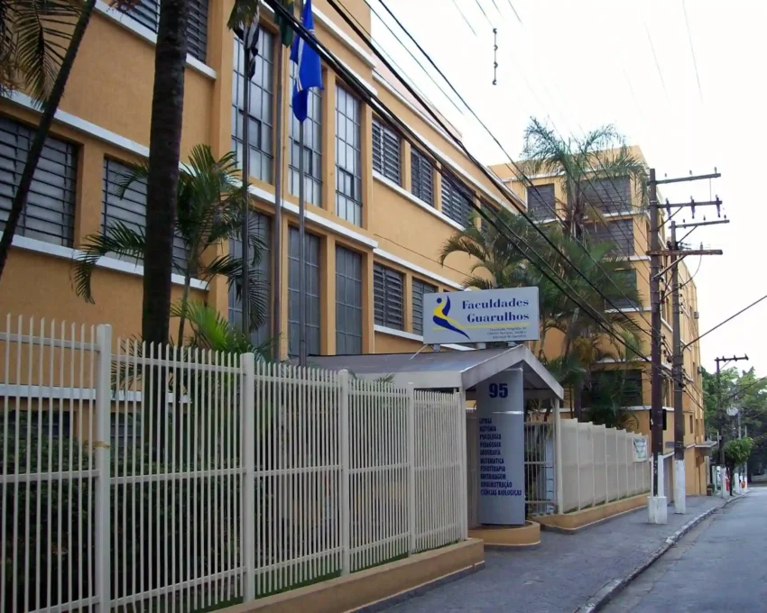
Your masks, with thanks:
[[[483,289],[426,294],[426,344],[537,341],[538,288]]]

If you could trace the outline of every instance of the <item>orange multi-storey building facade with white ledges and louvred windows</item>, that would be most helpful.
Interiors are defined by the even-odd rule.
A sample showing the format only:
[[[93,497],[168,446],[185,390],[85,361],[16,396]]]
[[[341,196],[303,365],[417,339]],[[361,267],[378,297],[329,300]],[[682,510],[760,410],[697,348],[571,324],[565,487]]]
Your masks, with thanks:
[[[282,357],[298,352],[299,244],[298,160],[304,156],[307,199],[307,306],[308,352],[311,355],[367,352],[416,352],[422,348],[424,294],[460,289],[470,273],[471,261],[460,253],[439,264],[439,251],[448,237],[466,226],[471,203],[506,206],[505,196],[457,148],[460,135],[446,124],[440,127],[430,110],[402,91],[391,74],[376,68],[365,42],[343,23],[325,0],[315,0],[314,13],[320,41],[359,78],[366,89],[409,124],[427,147],[420,149],[377,117],[337,74],[323,68],[324,89],[310,97],[305,142],[300,151],[298,125],[292,118],[291,65],[279,44],[273,15],[264,9],[265,22],[256,71],[249,87],[251,104],[243,107],[242,51],[226,21],[232,0],[194,0],[189,20],[181,160],[191,149],[208,144],[219,158],[236,151],[247,154],[256,198],[255,213],[265,256],[259,273],[271,288],[275,258],[282,262],[280,312],[273,308],[258,331],[257,340],[271,334],[279,317]],[[367,32],[370,13],[364,0],[346,0],[348,11]],[[109,323],[116,336],[128,337],[141,329],[142,274],[140,265],[102,258],[93,277],[95,304],[76,296],[72,259],[88,235],[98,233],[110,220],[141,227],[145,192],[136,185],[118,197],[116,182],[131,165],[147,159],[152,103],[152,74],[159,0],[147,0],[130,14],[107,3],[97,3],[79,50],[35,174],[32,193],[14,238],[0,293],[0,312],[33,315],[83,324]],[[288,78],[277,82],[277,65]],[[277,112],[277,90],[282,87],[282,114]],[[247,114],[250,142],[243,142],[242,122]],[[29,96],[18,93],[0,98],[0,224],[7,216],[23,160],[30,146],[32,126],[39,110]],[[276,123],[282,117],[282,142]],[[282,167],[275,152],[282,148]],[[246,153],[245,153],[246,151]],[[442,164],[438,161],[444,160]],[[502,170],[496,169],[499,176]],[[282,227],[274,225],[274,183],[282,176]],[[519,203],[534,210],[560,187],[551,178],[537,178],[538,194],[531,201],[522,185],[509,181]],[[541,209],[542,210],[542,209]],[[633,270],[647,302],[646,256],[648,219],[630,207],[605,211],[619,249]],[[599,230],[601,232],[601,230]],[[274,250],[274,237],[282,237],[282,252]],[[238,241],[221,244],[213,258],[242,249]],[[687,269],[682,278],[688,279]],[[183,279],[174,275],[173,297],[180,297]],[[237,323],[241,307],[226,279],[193,279],[191,297],[207,301]],[[684,289],[683,342],[697,335],[694,281]],[[623,305],[632,316],[649,314]],[[670,343],[670,306],[665,308],[664,334]],[[172,329],[172,325],[171,325]],[[467,347],[448,346],[466,351]],[[429,351],[427,349],[427,351]],[[553,349],[551,351],[554,351]],[[690,385],[686,441],[703,441],[698,344],[685,353]],[[670,364],[669,364],[670,366]],[[617,368],[605,364],[605,369]],[[646,369],[635,363],[620,367],[640,372],[642,403],[637,405],[641,432],[649,429],[649,383]],[[664,401],[671,406],[670,389]],[[672,420],[667,429],[672,440]],[[686,421],[687,424],[687,421]],[[693,466],[698,455],[690,446]],[[691,456],[692,457],[692,456]],[[688,477],[688,490],[705,489]]]

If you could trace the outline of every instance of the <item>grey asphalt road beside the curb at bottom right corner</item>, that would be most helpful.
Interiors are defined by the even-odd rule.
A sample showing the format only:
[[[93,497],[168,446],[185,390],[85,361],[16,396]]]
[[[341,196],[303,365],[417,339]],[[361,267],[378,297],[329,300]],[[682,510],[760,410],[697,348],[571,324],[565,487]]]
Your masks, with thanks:
[[[767,611],[767,488],[708,517],[603,610]]]

